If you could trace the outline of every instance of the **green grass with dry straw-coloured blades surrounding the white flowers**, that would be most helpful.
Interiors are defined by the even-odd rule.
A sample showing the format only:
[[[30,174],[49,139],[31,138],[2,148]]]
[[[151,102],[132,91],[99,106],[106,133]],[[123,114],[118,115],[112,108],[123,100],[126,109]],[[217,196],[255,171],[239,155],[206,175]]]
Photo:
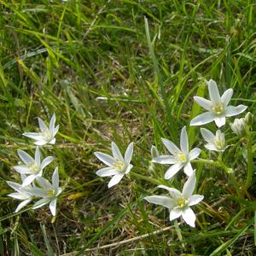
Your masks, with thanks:
[[[114,141],[124,153],[133,141],[134,172],[182,188],[182,173],[170,183],[167,166],[152,166],[151,145],[163,153],[160,137],[177,143],[187,125],[190,146],[207,159],[199,128],[189,127],[207,79],[221,92],[233,88],[232,105],[255,113],[255,8],[250,0],[0,0],[0,255],[253,255],[255,173],[238,197],[222,169],[194,165],[205,199],[191,229],[143,201],[160,193],[154,183],[130,176],[108,189],[93,152],[108,153]],[[33,152],[21,134],[54,112],[61,128],[44,154],[55,155],[46,177],[59,166],[64,186],[58,214],[13,214],[6,180],[19,181],[16,150]],[[234,146],[224,162],[244,189],[246,142],[225,131]]]

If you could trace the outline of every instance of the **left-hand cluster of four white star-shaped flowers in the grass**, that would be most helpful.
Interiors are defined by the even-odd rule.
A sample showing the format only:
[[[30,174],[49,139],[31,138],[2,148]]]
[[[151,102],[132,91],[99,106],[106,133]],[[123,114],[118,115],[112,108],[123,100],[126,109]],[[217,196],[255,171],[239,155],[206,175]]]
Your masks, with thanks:
[[[34,144],[38,146],[43,146],[47,143],[55,144],[55,135],[59,130],[59,125],[55,126],[55,113],[49,121],[49,127],[40,118],[38,118],[38,124],[41,132],[26,132],[23,135],[34,139]],[[52,174],[51,183],[43,177],[44,168],[52,162],[53,157],[48,156],[44,160],[41,160],[38,146],[36,147],[34,157],[23,150],[17,151],[21,162],[14,169],[20,173],[22,183],[8,181],[9,186],[16,191],[15,193],[9,194],[9,196],[21,201],[15,212],[19,212],[20,209],[26,207],[32,200],[39,198],[32,209],[43,207],[49,203],[49,210],[55,216],[57,196],[61,194],[59,172],[56,167]]]

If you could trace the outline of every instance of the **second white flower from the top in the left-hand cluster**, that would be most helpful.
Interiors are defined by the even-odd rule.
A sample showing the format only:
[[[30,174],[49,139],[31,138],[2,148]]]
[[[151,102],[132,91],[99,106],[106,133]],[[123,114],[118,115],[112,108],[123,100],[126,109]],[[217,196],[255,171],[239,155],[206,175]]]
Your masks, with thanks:
[[[22,183],[23,187],[32,183],[36,177],[42,176],[44,167],[48,166],[53,160],[52,156],[48,156],[41,163],[40,150],[38,147],[36,148],[34,160],[23,150],[18,150],[17,152],[25,166],[15,166],[15,171],[20,172],[20,174],[29,174]]]

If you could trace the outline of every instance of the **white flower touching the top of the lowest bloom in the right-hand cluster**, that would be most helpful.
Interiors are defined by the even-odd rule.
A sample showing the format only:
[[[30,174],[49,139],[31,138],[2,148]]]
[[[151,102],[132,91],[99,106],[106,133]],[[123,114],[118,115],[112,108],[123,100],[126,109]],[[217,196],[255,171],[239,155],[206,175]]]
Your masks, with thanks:
[[[162,138],[161,140],[165,144],[171,155],[160,155],[159,157],[155,157],[153,159],[153,162],[163,165],[173,165],[166,171],[165,179],[173,177],[182,168],[184,168],[184,172],[188,176],[191,176],[193,173],[193,168],[190,164],[190,160],[194,160],[195,158],[197,158],[198,155],[201,153],[201,149],[193,148],[189,152],[189,139],[186,131],[186,126],[184,126],[181,131],[181,149],[177,148],[174,143],[165,138]]]

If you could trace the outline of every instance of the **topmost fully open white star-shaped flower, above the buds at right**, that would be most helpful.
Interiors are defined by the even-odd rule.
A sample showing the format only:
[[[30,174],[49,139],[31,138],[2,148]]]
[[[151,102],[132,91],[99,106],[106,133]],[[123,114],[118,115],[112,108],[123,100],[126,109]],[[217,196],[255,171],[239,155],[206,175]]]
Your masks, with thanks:
[[[195,96],[194,99],[195,102],[208,112],[201,113],[192,119],[190,125],[205,125],[214,121],[215,124],[220,127],[225,124],[226,117],[237,115],[247,109],[247,106],[244,105],[237,107],[228,106],[233,95],[232,89],[225,90],[224,94],[220,96],[215,81],[210,79],[207,83],[211,101],[199,96]]]

